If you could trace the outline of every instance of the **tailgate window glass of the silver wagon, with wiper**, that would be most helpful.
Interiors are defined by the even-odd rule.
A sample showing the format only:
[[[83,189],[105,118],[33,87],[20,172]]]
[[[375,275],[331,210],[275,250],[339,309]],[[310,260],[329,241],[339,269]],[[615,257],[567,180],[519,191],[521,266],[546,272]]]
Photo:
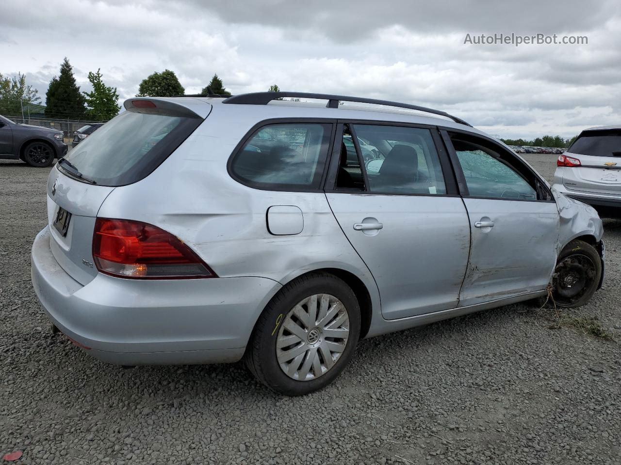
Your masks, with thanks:
[[[201,122],[199,117],[127,111],[93,131],[65,159],[99,185],[132,184],[160,166]]]

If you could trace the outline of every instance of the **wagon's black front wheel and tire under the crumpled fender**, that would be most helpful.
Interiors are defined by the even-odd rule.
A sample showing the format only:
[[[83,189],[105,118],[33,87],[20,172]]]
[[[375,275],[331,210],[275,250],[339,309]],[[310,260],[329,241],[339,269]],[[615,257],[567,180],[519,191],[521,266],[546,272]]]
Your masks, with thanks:
[[[586,304],[599,285],[602,262],[595,247],[576,239],[558,255],[548,306],[575,308]]]

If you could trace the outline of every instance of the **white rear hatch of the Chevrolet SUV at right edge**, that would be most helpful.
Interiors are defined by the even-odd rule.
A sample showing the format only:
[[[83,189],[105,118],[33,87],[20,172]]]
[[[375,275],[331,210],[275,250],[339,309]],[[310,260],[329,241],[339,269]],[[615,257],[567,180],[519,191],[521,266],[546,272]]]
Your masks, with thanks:
[[[621,129],[582,131],[566,155],[581,164],[563,170],[568,190],[621,196]]]

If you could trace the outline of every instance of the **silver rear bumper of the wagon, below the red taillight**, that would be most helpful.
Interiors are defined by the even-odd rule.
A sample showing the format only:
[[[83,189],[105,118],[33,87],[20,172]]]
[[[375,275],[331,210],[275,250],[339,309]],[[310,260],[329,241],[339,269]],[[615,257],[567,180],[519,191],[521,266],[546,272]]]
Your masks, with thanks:
[[[147,281],[101,273],[83,286],[54,259],[47,227],[32,246],[31,275],[58,329],[119,365],[240,360],[256,319],[281,288],[268,278]]]

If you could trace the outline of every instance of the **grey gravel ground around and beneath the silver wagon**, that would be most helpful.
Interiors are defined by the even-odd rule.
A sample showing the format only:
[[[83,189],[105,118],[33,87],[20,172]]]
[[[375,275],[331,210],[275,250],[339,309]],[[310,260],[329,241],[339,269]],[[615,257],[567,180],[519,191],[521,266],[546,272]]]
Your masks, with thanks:
[[[550,176],[555,156],[527,156]],[[0,456],[27,464],[621,464],[621,346],[512,305],[360,343],[287,398],[241,363],[123,370],[52,336],[30,285],[48,169],[0,162]],[[621,221],[575,311],[621,339]],[[617,329],[615,329],[615,326]],[[0,463],[3,463],[0,461]]]

